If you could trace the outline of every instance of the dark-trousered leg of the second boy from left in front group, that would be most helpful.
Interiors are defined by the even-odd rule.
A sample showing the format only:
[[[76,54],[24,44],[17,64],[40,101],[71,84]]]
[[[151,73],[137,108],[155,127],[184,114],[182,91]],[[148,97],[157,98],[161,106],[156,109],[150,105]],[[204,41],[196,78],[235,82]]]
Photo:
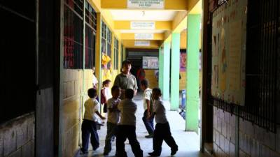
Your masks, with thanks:
[[[112,149],[111,140],[112,137],[116,134],[116,126],[117,124],[112,124],[110,122],[107,122],[107,135],[105,140],[104,153],[108,154]]]

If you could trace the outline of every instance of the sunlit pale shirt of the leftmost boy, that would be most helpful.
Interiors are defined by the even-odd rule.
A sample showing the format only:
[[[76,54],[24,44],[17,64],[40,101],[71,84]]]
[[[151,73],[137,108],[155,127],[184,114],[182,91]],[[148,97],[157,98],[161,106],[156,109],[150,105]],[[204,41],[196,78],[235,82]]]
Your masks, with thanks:
[[[83,119],[87,119],[90,121],[97,121],[98,116],[96,112],[99,110],[99,103],[95,98],[89,98],[85,101],[85,114]]]

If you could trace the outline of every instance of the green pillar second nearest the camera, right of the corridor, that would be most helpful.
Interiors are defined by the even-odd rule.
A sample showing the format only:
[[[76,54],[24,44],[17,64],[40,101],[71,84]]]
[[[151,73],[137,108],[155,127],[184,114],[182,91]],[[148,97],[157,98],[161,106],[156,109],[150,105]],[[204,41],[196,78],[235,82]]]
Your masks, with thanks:
[[[172,33],[171,110],[179,108],[180,33]]]

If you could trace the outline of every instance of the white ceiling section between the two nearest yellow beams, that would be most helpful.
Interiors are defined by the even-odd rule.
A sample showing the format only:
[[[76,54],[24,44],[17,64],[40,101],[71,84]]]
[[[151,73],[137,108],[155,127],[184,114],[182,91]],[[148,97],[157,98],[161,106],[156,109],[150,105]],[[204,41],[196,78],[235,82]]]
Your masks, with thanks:
[[[177,13],[174,10],[110,10],[113,20],[122,21],[172,21]]]

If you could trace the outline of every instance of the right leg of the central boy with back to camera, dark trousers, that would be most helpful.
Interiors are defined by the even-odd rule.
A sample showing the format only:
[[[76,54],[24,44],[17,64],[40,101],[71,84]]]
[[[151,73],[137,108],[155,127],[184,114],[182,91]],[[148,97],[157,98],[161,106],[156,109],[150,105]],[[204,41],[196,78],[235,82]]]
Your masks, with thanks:
[[[135,130],[135,126],[127,126],[127,138],[128,140],[130,140],[130,146],[132,147],[132,152],[134,156],[143,157],[143,151],[141,150],[140,144],[137,141]]]

